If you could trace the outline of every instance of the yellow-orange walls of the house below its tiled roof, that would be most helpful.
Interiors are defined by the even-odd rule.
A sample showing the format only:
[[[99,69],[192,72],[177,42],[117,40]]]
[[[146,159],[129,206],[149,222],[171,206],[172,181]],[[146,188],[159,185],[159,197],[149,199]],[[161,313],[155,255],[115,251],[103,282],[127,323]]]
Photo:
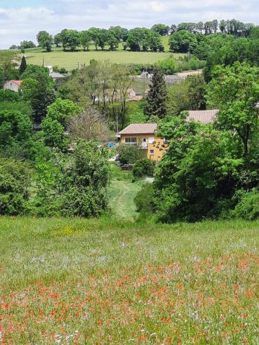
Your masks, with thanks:
[[[146,139],[146,148],[143,148],[146,152],[146,157],[148,159],[151,159],[152,161],[160,161],[166,151],[166,145],[164,145],[164,140],[160,137],[157,137],[155,134],[143,134],[143,135],[121,135],[121,143],[126,144],[125,139],[126,138],[137,138],[137,144],[139,146],[142,146],[143,139]],[[155,141],[153,144],[150,144],[148,139],[149,138],[154,138]],[[132,145],[132,144],[126,144],[126,145]],[[151,152],[153,150],[153,154]]]

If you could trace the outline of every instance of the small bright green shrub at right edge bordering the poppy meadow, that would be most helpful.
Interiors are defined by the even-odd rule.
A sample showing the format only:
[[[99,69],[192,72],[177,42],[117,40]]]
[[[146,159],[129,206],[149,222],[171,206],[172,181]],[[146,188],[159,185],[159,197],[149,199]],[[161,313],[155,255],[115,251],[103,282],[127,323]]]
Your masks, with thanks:
[[[253,188],[249,192],[239,190],[233,197],[238,199],[238,204],[233,210],[233,216],[253,220],[259,218],[259,190]]]

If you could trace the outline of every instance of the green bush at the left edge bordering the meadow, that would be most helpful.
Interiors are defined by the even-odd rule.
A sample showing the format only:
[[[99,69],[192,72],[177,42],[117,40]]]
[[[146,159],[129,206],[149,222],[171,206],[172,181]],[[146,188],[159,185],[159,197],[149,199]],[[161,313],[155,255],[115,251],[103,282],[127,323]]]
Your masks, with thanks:
[[[0,215],[21,215],[26,212],[29,187],[28,165],[0,158]]]

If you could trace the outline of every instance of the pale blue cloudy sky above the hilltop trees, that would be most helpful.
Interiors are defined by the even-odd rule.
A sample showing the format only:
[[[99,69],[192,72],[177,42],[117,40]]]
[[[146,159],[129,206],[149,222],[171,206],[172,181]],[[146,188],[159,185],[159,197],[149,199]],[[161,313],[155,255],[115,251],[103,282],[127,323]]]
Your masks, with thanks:
[[[258,0],[0,0],[0,48],[36,41],[40,30],[125,28],[239,19],[259,24]]]

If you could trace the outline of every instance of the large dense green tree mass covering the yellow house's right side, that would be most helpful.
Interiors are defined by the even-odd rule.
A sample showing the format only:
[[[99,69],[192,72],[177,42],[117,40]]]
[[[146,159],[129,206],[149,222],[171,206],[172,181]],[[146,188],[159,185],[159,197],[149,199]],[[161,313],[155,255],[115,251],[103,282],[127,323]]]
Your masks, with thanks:
[[[155,208],[162,221],[196,221],[231,208],[244,160],[240,141],[193,122],[172,117],[160,128],[171,141],[155,177]]]

